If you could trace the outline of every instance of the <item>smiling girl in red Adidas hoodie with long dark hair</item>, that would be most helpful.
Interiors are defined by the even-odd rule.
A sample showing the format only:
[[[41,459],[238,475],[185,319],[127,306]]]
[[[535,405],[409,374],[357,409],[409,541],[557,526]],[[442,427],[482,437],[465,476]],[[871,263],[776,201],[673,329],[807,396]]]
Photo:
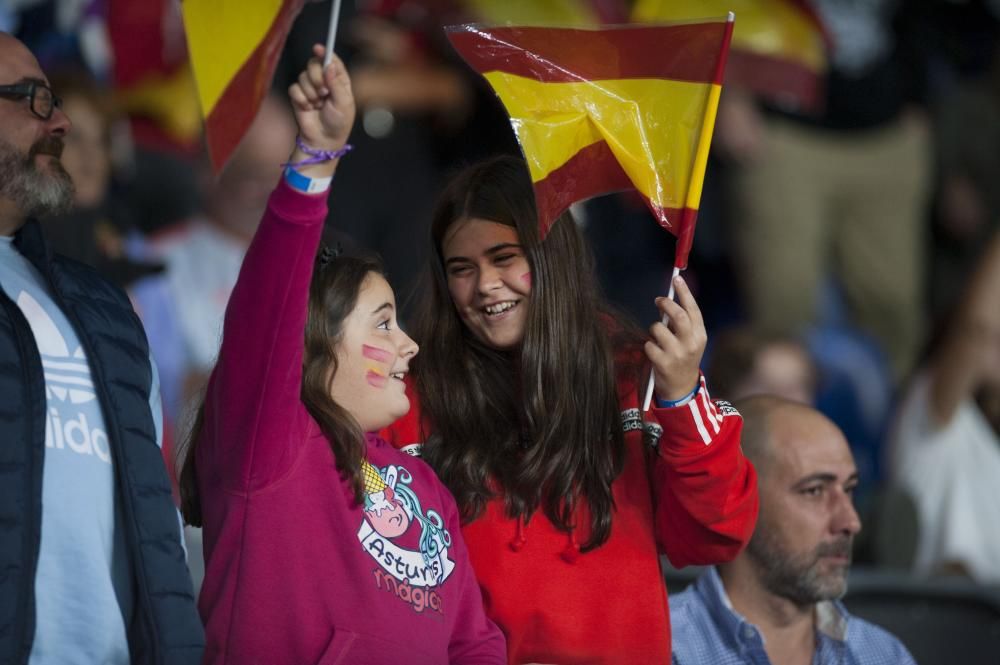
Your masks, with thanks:
[[[728,561],[753,531],[742,421],[708,397],[705,327],[683,280],[679,303],[657,300],[669,327],[647,340],[602,303],[572,218],[544,241],[537,220],[521,160],[475,165],[445,191],[417,326],[419,406],[387,437],[455,495],[509,662],[666,664],[659,554]],[[649,367],[657,403],[640,413]]]

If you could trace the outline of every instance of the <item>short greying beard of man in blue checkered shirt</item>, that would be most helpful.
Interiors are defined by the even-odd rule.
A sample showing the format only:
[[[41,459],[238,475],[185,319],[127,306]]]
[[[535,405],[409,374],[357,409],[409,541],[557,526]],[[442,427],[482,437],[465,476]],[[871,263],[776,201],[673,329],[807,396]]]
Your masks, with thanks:
[[[761,581],[771,593],[803,606],[842,598],[847,593],[851,536],[820,543],[811,552],[796,555],[783,549],[772,533],[758,524],[747,545],[747,555],[761,571]],[[826,556],[846,556],[847,563],[825,573],[820,563]]]

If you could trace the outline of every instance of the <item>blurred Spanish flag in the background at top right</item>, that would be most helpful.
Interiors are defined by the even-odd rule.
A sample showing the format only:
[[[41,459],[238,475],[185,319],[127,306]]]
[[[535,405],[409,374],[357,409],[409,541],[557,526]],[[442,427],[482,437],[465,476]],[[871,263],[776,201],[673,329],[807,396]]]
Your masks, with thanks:
[[[819,18],[801,0],[638,0],[632,19],[687,21],[727,11],[739,20],[726,82],[786,108],[821,107],[826,37]]]

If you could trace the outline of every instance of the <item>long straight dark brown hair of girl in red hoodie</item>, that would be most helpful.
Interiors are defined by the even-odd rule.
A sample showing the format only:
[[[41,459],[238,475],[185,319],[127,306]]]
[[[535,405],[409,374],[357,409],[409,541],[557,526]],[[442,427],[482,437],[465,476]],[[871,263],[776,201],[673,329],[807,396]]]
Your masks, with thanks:
[[[454,222],[472,218],[515,228],[531,267],[524,338],[515,351],[479,342],[448,291],[442,240]],[[459,174],[438,203],[431,233],[433,286],[416,326],[416,386],[432,428],[425,458],[466,520],[499,492],[509,516],[527,521],[541,507],[569,532],[581,526],[573,519],[582,503],[590,514],[582,549],[601,545],[611,533],[611,484],[625,458],[615,350],[638,348],[641,335],[603,303],[593,258],[568,214],[540,239],[521,160],[498,157]]]

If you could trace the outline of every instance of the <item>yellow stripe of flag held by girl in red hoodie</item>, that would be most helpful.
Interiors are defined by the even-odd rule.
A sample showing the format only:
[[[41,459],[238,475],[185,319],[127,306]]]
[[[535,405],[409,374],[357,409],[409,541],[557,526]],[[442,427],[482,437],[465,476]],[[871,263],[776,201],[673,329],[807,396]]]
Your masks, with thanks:
[[[507,108],[532,181],[605,141],[653,205],[683,207],[709,92],[719,86],[666,79],[541,83],[502,72],[485,76]]]

